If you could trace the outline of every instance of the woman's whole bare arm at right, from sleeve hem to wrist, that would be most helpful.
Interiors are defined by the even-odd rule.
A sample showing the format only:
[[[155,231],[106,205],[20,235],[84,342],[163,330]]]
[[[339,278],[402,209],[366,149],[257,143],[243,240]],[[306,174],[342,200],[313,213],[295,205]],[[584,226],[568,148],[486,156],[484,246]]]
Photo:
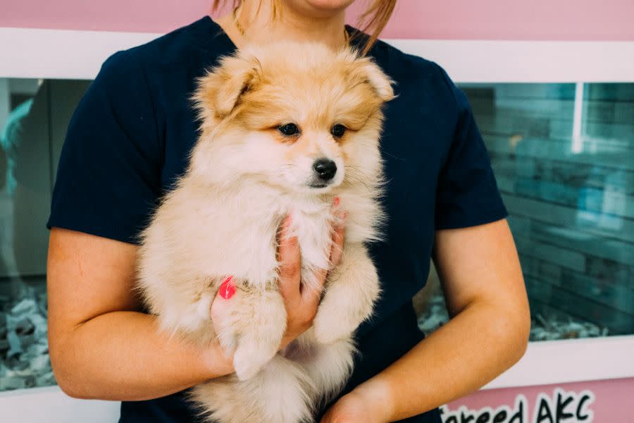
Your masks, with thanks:
[[[323,422],[392,422],[465,396],[517,362],[528,299],[506,220],[438,231],[435,263],[454,317],[341,398]]]

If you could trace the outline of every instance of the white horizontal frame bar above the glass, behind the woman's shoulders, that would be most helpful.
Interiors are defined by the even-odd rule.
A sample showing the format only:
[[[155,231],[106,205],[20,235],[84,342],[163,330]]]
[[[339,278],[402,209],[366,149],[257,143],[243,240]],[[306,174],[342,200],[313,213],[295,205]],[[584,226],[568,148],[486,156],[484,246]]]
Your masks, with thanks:
[[[0,27],[0,78],[93,79],[115,51],[161,34]],[[631,82],[634,42],[388,39],[456,82]]]

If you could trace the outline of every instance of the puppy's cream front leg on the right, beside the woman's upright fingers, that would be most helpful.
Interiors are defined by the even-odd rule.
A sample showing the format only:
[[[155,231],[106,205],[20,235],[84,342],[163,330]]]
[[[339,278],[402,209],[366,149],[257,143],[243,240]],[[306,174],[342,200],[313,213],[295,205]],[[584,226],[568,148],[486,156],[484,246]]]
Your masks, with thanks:
[[[370,317],[379,292],[378,275],[366,247],[344,245],[341,262],[330,272],[313,321],[317,341],[332,343],[349,337]]]

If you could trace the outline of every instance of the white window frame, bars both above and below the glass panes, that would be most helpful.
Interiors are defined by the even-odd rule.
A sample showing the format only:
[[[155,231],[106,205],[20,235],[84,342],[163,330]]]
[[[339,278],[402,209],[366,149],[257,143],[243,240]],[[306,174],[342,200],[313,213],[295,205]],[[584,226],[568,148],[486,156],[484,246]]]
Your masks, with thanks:
[[[0,27],[0,78],[93,79],[115,51],[159,36]],[[634,82],[634,42],[387,42],[436,61],[456,82]],[[634,377],[632,357],[634,336],[530,343],[522,360],[485,389]],[[23,422],[61,421],[51,419],[51,412],[74,413],[73,422],[98,422],[98,416],[111,422],[118,413],[116,403],[72,400],[57,387],[0,393],[0,409]]]

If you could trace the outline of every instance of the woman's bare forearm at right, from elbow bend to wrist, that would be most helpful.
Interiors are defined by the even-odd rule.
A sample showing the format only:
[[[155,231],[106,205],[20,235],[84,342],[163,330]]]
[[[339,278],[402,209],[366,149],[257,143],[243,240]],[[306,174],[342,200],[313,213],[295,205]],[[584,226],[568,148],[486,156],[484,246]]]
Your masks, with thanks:
[[[476,302],[355,391],[376,405],[385,421],[433,410],[517,362],[529,328],[526,313]]]

